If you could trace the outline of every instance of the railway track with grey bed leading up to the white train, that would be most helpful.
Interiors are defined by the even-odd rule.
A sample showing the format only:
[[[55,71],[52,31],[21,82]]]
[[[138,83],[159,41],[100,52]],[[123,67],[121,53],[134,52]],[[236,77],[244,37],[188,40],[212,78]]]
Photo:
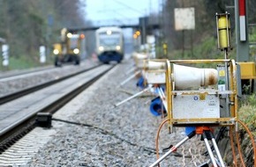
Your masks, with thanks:
[[[7,99],[1,98],[0,152],[3,153],[35,127],[37,113],[55,113],[113,67],[102,65],[86,69],[26,91],[12,93]]]

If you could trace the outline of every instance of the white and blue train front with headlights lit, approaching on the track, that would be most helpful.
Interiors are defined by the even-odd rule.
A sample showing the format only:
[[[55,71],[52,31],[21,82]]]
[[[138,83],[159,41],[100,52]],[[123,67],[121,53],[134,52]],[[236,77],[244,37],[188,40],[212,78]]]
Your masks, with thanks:
[[[100,62],[122,62],[124,33],[117,26],[101,27],[95,31],[96,54]]]

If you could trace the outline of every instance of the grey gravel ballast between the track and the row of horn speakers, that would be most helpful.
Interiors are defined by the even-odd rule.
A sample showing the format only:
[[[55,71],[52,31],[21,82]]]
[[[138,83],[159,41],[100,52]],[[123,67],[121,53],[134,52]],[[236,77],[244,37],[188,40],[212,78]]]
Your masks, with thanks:
[[[154,97],[134,98],[124,105],[117,102],[130,95],[121,91],[125,71],[132,60],[125,60],[112,69],[53,115],[51,129],[56,130],[43,149],[26,166],[149,166],[156,160],[155,135],[162,122],[149,112]],[[138,92],[138,78],[124,84],[122,90]],[[69,120],[65,123],[59,120]],[[79,125],[73,124],[79,123]],[[184,128],[169,134],[163,127],[160,152],[184,139]],[[197,166],[205,162],[200,156],[205,149],[200,136],[184,143],[176,153],[163,160],[161,166]]]

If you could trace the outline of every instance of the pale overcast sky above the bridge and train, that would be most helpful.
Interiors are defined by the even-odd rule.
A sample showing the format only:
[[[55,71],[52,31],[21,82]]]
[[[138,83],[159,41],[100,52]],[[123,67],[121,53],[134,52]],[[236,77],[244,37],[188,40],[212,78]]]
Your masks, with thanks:
[[[138,22],[139,17],[147,16],[149,12],[160,10],[159,0],[87,0],[87,19],[93,22]]]

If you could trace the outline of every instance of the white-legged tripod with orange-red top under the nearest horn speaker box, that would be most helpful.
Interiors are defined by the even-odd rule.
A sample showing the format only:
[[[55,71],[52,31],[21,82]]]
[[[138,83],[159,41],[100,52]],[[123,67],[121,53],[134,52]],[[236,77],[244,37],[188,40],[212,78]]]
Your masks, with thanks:
[[[161,156],[159,159],[157,159],[157,161],[155,161],[153,164],[150,165],[150,167],[154,167],[155,165],[157,165],[158,163],[161,163],[162,160],[166,157],[169,156],[170,153],[174,152],[177,150],[178,147],[180,147],[184,142],[188,141],[189,139],[191,139],[195,134],[201,134],[204,142],[207,146],[207,151],[208,154],[210,156],[211,162],[213,163],[214,167],[225,167],[223,160],[222,160],[222,156],[221,153],[218,149],[218,146],[215,142],[215,137],[214,134],[212,134],[211,130],[209,127],[196,127],[195,131],[192,131],[192,133],[188,134],[182,141],[178,142],[177,145],[173,146],[172,148],[169,149],[168,152],[166,152],[163,156]],[[214,153],[210,147],[210,144],[208,142],[208,140],[211,140],[215,149],[215,154],[218,157],[218,160],[215,159]]]

